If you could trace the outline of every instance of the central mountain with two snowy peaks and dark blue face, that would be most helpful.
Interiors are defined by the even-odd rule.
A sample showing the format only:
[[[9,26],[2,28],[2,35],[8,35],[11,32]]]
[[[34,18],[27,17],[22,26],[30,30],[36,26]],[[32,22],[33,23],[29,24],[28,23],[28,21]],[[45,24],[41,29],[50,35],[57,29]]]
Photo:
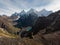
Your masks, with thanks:
[[[28,12],[25,12],[24,10],[20,13],[20,18],[15,21],[17,22],[18,27],[27,27],[32,26],[36,19],[38,18],[38,15],[34,12],[34,9],[30,9]]]

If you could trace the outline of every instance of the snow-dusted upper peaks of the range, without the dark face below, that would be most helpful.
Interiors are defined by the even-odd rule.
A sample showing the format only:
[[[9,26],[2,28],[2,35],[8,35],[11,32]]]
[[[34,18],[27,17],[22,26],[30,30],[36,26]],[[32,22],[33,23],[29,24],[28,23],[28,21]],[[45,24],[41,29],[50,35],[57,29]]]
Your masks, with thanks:
[[[30,9],[29,11],[25,12],[24,10],[22,10],[20,13],[15,12],[14,14],[11,15],[11,18],[19,18],[20,15],[28,15],[28,14],[37,14],[38,16],[48,16],[49,14],[53,13],[52,11],[47,11],[46,9],[42,9],[41,11],[37,11],[35,9]]]

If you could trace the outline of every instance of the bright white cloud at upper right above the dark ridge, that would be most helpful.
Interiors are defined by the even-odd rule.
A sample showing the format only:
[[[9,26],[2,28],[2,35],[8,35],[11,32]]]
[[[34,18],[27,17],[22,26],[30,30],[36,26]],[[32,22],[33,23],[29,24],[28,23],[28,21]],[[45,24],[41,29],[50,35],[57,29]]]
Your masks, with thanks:
[[[44,7],[39,7],[37,10],[39,9],[47,9],[47,10],[52,10],[52,11],[58,11],[60,10],[60,0],[52,0],[53,2],[49,5],[46,5]]]

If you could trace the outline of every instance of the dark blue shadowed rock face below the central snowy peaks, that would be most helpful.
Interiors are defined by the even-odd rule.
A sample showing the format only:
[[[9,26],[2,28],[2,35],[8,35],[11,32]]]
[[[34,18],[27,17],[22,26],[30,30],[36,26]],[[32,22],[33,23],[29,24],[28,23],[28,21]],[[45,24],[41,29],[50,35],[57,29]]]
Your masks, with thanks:
[[[17,22],[16,27],[32,26],[37,18],[38,16],[35,13],[21,15],[20,18],[17,21],[15,21]]]

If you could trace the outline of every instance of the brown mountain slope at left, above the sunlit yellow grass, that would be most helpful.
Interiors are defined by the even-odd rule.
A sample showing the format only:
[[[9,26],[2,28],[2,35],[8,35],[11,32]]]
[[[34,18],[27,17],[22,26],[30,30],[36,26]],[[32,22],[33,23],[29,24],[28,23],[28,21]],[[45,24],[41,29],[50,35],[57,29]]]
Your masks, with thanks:
[[[10,33],[18,31],[18,28],[15,28],[8,18],[0,17],[0,28],[7,30]]]

